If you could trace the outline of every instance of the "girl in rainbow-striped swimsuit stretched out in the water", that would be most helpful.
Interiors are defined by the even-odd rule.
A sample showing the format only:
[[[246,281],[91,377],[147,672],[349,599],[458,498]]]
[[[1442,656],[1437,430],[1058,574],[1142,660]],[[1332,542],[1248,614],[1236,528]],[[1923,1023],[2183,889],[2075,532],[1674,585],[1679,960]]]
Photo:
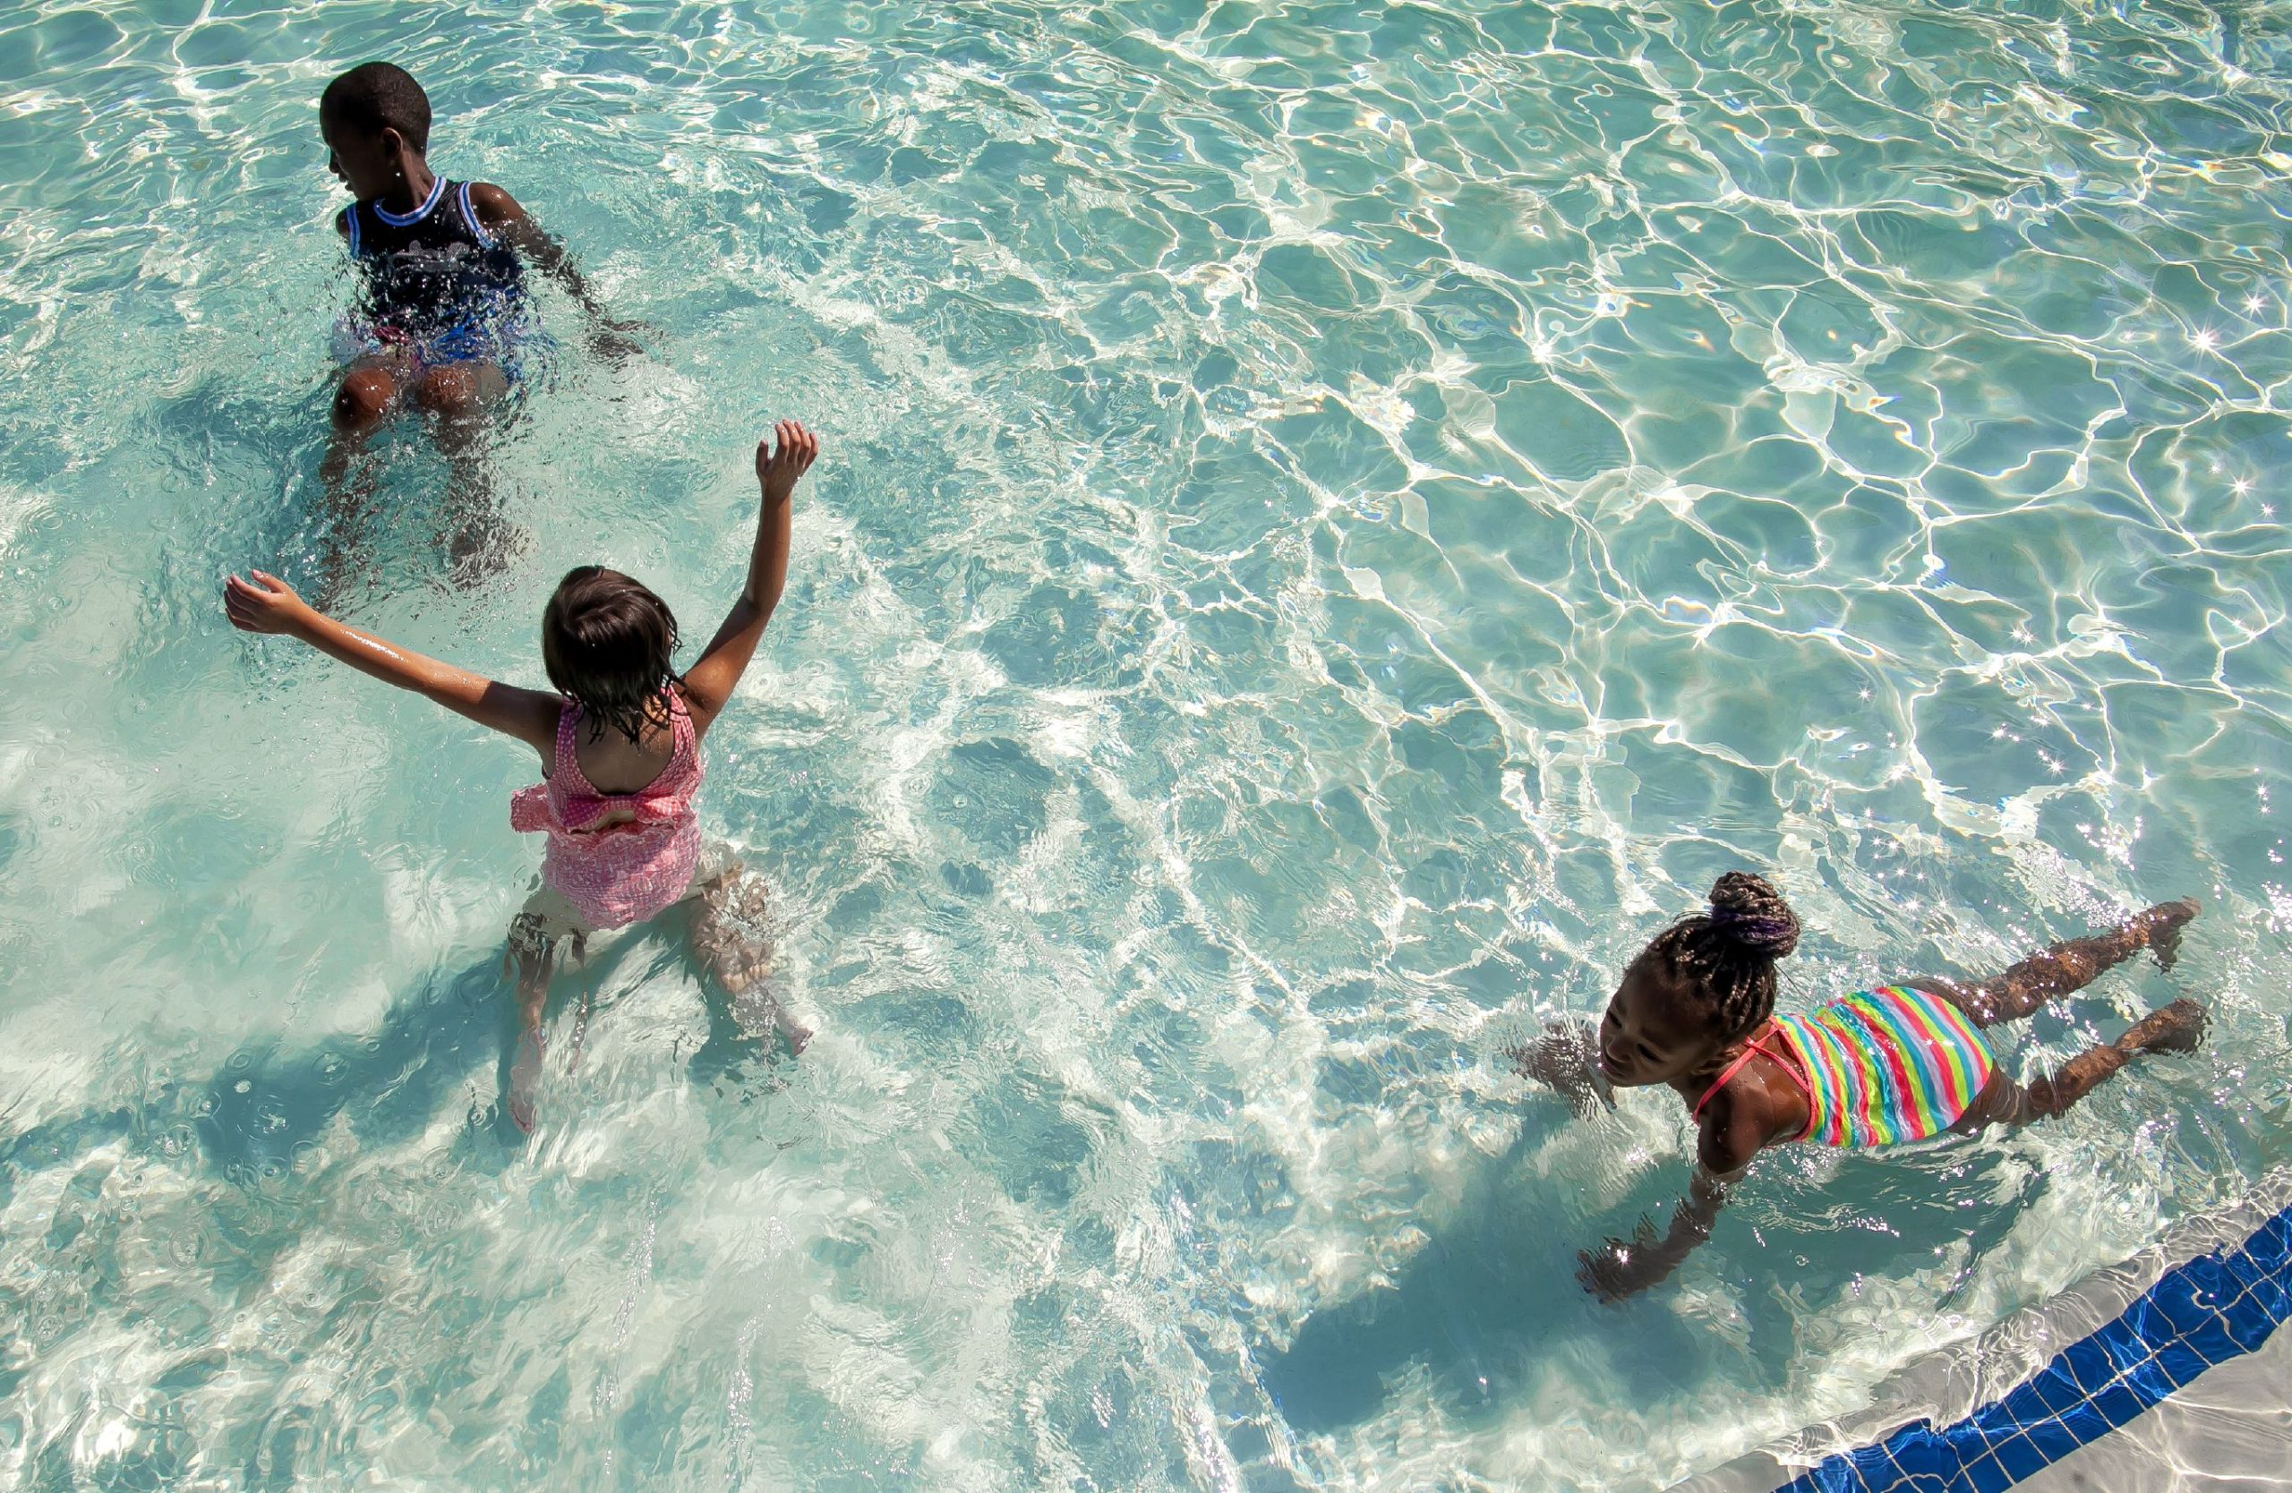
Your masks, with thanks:
[[[1513,1053],[1520,1074],[1584,1111],[1604,1085],[1669,1083],[1696,1122],[1696,1175],[1657,1239],[1586,1250],[1577,1278],[1602,1301],[1664,1280],[1710,1239],[1728,1186],[1769,1145],[1893,1145],[2058,1115],[2145,1051],[2191,1051],[2205,1010],[2173,1001],[2122,1037],[2022,1088],[1996,1067],[1983,1028],[2081,989],[2141,948],[2173,966],[2196,902],[2164,902],[2088,939],[2070,939],[1978,985],[1912,980],[1859,992],[1802,1017],[1774,1014],[1774,962],[1799,918],[1765,877],[1733,870],[1710,909],[1680,918],[1623,971],[1598,1035],[1552,1030]]]

